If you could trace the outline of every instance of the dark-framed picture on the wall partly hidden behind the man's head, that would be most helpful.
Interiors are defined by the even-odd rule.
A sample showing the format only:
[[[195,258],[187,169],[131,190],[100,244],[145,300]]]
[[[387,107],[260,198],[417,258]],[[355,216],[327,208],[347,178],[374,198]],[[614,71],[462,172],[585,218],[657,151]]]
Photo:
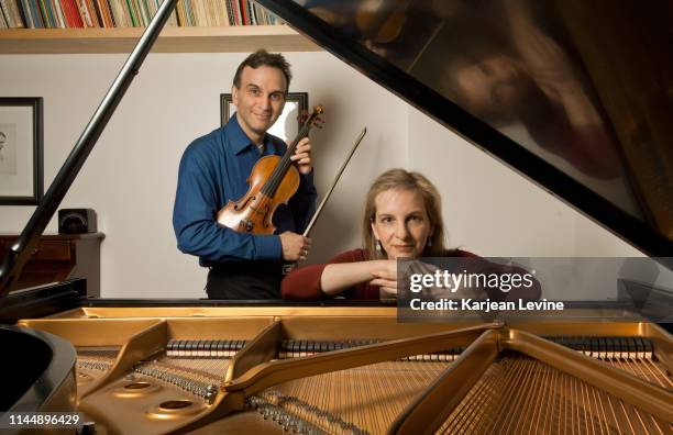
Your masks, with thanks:
[[[299,114],[308,110],[308,92],[288,92],[285,99],[285,108],[278,120],[268,132],[283,141],[293,140],[301,129]],[[224,126],[231,115],[235,112],[231,93],[220,93],[220,118]]]

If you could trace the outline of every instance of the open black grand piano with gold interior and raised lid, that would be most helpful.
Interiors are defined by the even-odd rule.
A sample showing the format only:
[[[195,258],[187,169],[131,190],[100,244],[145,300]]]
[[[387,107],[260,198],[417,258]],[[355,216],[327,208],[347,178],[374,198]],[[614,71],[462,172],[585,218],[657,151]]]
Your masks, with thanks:
[[[258,3],[671,269],[670,2]],[[652,282],[556,314],[410,323],[385,303],[110,301],[81,280],[12,289],[110,105],[0,269],[2,343],[21,349],[3,358],[19,379],[3,411],[76,411],[101,434],[673,433],[673,297]]]

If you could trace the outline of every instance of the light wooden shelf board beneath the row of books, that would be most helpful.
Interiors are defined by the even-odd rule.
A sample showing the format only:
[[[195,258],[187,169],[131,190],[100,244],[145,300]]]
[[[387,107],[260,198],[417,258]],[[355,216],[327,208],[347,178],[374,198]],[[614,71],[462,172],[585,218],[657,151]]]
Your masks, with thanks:
[[[11,29],[0,31],[0,54],[130,53],[144,29]],[[165,27],[153,53],[319,52],[287,25]]]

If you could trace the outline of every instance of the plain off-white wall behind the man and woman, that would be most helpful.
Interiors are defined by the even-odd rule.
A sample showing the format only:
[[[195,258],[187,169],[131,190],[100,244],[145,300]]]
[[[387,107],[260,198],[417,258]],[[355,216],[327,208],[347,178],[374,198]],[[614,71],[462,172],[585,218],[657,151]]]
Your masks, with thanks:
[[[179,253],[170,225],[177,166],[195,137],[219,126],[245,54],[151,54],[62,208],[93,208],[107,298],[199,298],[206,270]],[[622,256],[639,253],[409,108],[327,53],[288,53],[293,91],[324,104],[312,133],[324,192],[363,125],[368,134],[312,234],[311,261],[360,245],[362,200],[390,167],[440,187],[451,245],[482,255]],[[44,97],[45,187],[124,62],[122,55],[0,56],[0,94]],[[0,207],[0,232],[19,232],[32,207]],[[47,232],[56,232],[55,220]]]

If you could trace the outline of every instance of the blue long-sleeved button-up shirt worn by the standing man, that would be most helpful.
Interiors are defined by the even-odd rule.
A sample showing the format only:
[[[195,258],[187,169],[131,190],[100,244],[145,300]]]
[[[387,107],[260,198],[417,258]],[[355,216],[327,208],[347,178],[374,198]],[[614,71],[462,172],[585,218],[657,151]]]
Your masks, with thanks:
[[[264,137],[264,156],[283,156],[287,146],[276,136]],[[201,266],[241,260],[282,260],[277,235],[239,233],[216,222],[216,213],[242,198],[253,166],[260,159],[257,147],[245,135],[234,113],[227,125],[194,141],[183,154],[173,209],[173,228],[178,248],[197,255]],[[276,233],[301,233],[316,207],[313,175],[300,175],[299,189],[288,207],[274,213]]]

